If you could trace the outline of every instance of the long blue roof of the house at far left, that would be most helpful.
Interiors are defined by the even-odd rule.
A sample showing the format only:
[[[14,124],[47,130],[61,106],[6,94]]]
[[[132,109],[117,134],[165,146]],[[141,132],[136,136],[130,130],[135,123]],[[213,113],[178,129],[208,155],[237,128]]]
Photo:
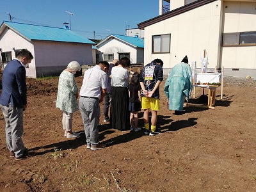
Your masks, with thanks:
[[[88,40],[88,38],[68,29],[7,21],[1,24],[1,28],[3,28],[4,24],[29,40],[95,44],[95,42]]]

